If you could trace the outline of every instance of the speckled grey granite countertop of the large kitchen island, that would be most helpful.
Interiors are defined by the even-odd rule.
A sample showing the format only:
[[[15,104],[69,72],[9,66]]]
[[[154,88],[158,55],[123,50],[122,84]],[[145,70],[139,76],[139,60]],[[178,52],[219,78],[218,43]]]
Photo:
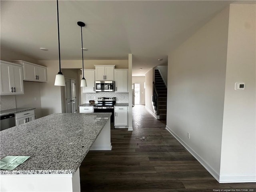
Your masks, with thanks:
[[[0,170],[0,174],[76,172],[110,116],[111,113],[57,113],[2,130],[0,158],[30,158],[14,170]]]

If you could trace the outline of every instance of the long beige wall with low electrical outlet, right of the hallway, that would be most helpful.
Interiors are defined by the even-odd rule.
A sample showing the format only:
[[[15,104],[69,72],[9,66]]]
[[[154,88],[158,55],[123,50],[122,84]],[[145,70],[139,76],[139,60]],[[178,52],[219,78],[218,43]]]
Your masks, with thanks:
[[[226,8],[168,55],[166,128],[218,179],[228,43]],[[187,137],[190,133],[190,139]]]

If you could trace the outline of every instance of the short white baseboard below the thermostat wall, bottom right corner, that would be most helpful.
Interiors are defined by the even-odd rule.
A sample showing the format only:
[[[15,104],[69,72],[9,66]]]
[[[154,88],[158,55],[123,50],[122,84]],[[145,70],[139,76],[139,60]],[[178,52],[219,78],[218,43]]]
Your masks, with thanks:
[[[220,174],[220,183],[255,183],[256,174]]]

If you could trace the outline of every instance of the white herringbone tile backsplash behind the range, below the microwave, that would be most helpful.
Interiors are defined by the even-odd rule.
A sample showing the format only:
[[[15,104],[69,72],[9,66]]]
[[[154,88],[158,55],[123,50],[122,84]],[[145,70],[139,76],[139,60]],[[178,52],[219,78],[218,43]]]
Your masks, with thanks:
[[[96,99],[94,99],[94,97]],[[96,92],[96,93],[83,93],[83,103],[89,103],[89,100],[97,101],[98,97],[116,97],[117,103],[128,103],[128,93],[116,93],[116,92]]]

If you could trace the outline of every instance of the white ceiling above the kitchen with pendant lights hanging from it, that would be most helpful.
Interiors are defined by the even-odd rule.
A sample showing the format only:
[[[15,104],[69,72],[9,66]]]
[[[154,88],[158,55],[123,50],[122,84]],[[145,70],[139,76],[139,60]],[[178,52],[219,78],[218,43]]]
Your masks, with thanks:
[[[61,60],[81,60],[81,34],[87,59],[128,59],[132,75],[167,64],[168,53],[231,1],[60,0]],[[58,60],[56,1],[1,0],[1,49],[36,60]],[[42,51],[39,48],[47,48]],[[163,58],[158,61],[158,58]],[[17,59],[17,58],[14,58]],[[143,68],[139,70],[139,68]]]

